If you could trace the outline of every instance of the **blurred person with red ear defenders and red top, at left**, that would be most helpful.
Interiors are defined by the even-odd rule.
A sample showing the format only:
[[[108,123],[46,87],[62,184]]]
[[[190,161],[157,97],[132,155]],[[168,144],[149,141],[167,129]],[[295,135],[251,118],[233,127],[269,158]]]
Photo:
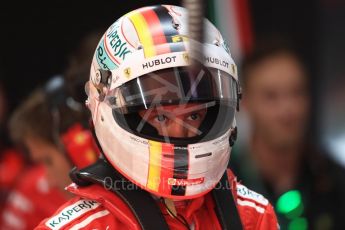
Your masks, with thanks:
[[[82,37],[69,55],[64,77],[51,78],[13,114],[12,138],[36,165],[22,173],[5,199],[5,212],[0,218],[4,224],[0,229],[33,229],[70,197],[64,190],[70,183],[70,169],[75,165],[84,167],[98,158],[98,149],[86,129],[89,111],[84,106],[85,99],[78,94],[84,91],[84,85],[79,83],[89,77],[89,62],[99,36],[95,30]],[[69,84],[65,84],[65,79]]]

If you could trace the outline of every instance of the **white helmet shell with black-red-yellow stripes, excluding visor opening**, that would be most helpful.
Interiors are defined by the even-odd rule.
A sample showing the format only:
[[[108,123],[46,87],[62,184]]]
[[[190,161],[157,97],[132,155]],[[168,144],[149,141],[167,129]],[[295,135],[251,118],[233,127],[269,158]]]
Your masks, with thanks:
[[[228,46],[207,19],[204,26],[207,32],[202,44],[203,56],[198,61],[207,69],[217,70],[217,77],[221,77],[221,72],[222,78],[237,86],[236,65]],[[229,136],[237,88],[228,87],[232,90],[229,95],[233,96],[232,117],[224,120],[224,130],[212,138],[184,144],[138,135],[124,128],[114,119],[111,100],[125,104],[125,96],[118,94],[121,87],[142,76],[188,66],[194,58],[189,53],[193,42],[188,39],[184,8],[145,7],[112,24],[92,60],[87,105],[104,155],[128,180],[157,196],[190,199],[205,194],[218,183],[230,157]]]

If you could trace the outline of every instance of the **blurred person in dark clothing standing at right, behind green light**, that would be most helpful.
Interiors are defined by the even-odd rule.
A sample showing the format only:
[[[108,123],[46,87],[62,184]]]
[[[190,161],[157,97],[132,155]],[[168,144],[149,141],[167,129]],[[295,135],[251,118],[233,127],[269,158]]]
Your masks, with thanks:
[[[312,78],[291,47],[266,41],[244,60],[251,128],[230,167],[273,202],[281,229],[345,229],[345,172],[308,135]]]

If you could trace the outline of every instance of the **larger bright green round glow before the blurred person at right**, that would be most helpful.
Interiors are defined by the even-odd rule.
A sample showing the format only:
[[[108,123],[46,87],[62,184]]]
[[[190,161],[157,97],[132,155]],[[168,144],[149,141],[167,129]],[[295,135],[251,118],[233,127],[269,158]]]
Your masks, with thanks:
[[[290,190],[281,195],[276,204],[277,211],[289,219],[299,217],[303,213],[303,202],[298,190]]]

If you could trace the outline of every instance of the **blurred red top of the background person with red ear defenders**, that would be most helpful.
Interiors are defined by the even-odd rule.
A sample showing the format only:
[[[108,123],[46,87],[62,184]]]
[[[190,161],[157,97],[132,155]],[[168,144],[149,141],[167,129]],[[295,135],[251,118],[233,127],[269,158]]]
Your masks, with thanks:
[[[0,230],[31,230],[67,200],[62,191],[49,186],[43,166],[28,168],[7,198]]]

